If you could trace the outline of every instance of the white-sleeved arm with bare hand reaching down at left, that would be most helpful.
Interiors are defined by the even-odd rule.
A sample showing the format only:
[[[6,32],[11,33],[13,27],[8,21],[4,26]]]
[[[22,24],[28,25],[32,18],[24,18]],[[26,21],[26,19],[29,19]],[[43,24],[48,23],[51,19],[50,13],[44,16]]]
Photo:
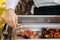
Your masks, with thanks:
[[[18,24],[18,17],[15,14],[15,6],[17,5],[19,0],[6,0],[6,16],[5,16],[5,22],[16,29],[16,26]]]

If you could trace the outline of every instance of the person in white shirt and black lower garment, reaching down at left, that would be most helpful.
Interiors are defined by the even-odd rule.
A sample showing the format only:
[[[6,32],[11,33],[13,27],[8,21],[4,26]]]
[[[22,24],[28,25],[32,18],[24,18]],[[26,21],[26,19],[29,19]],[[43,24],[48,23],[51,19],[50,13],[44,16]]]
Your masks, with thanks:
[[[20,0],[6,0],[5,22],[13,28],[16,28],[18,24],[18,16],[15,14],[15,7],[18,4],[18,1]],[[45,13],[55,14],[56,8],[58,10],[57,12],[59,12],[60,10],[60,0],[33,0],[33,1],[35,6],[34,15]]]

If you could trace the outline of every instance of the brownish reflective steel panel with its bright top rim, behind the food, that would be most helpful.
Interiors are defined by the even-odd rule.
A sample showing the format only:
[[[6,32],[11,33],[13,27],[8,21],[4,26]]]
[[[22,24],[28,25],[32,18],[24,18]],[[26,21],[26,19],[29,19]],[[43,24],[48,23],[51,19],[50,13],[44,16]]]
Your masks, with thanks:
[[[18,15],[20,22],[60,23],[60,16],[56,15]]]

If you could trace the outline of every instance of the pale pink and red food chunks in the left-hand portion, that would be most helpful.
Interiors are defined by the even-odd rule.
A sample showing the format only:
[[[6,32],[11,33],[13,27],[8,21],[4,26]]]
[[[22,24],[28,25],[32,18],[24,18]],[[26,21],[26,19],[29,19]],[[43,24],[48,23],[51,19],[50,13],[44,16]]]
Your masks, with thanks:
[[[38,39],[39,38],[37,32],[31,31],[31,30],[22,30],[17,34],[17,36],[25,38],[25,39]]]

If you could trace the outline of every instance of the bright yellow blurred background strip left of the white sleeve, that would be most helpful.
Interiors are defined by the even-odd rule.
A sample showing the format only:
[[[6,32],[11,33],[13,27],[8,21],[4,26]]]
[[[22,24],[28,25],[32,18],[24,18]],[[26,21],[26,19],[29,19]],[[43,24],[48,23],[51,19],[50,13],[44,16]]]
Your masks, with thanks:
[[[5,2],[6,2],[6,0],[0,0],[0,28],[2,28],[3,27],[3,25],[4,25],[4,21],[3,21],[3,18],[4,18],[4,16],[5,16],[5,12],[6,12],[6,10],[5,10]]]

